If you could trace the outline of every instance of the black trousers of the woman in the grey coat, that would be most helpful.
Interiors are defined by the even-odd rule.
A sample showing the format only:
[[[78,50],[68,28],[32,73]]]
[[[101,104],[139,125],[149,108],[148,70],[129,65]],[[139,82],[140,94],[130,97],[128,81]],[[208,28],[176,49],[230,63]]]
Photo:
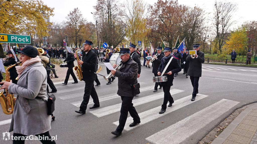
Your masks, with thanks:
[[[44,136],[43,136],[44,135]],[[39,135],[36,135],[36,137],[38,137],[39,139],[40,137],[44,137],[44,140],[40,140],[43,144],[56,144],[54,140],[51,140],[51,136],[49,134],[49,131],[45,132],[45,133],[41,133]],[[20,137],[20,140],[13,140],[13,144],[24,144],[25,140],[21,140],[22,137],[26,138],[26,135],[22,135],[20,133],[13,133],[13,137]],[[45,137],[48,137],[48,140],[45,140]]]

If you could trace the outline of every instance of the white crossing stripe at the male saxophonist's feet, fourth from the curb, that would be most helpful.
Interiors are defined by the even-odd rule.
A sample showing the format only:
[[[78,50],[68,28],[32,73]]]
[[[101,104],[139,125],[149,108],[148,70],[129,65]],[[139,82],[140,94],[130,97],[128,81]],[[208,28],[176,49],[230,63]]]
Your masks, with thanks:
[[[153,90],[153,89],[154,89],[154,86],[147,86],[147,87],[141,88],[140,91],[143,92],[143,91],[148,91],[148,90]],[[114,98],[118,98],[118,97],[120,97],[120,96],[118,96],[117,94],[114,93],[114,94],[109,94],[109,95],[98,97],[98,99],[99,99],[99,102],[100,102],[100,101],[110,100],[110,99],[114,99]],[[82,102],[82,100],[72,102],[71,104],[76,106],[76,107],[80,107],[81,102]],[[89,99],[88,105],[90,105],[90,104],[94,104],[93,99]]]

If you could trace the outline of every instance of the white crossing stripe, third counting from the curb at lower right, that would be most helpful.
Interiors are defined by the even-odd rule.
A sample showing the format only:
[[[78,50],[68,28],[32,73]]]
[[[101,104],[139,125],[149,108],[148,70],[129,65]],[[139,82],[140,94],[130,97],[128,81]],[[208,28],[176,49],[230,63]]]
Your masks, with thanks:
[[[170,94],[174,95],[174,94],[178,94],[178,93],[183,92],[183,91],[184,90],[171,89]],[[133,106],[138,106],[138,105],[150,102],[150,101],[161,99],[161,98],[163,98],[163,96],[164,96],[164,92],[160,92],[158,94],[153,94],[153,95],[133,99],[133,101],[132,101]],[[89,111],[89,112],[91,114],[97,116],[97,117],[102,117],[102,116],[106,116],[106,115],[112,114],[114,112],[120,111],[120,109],[121,109],[121,103],[116,104],[116,105],[111,105],[111,106],[108,106],[108,107],[104,107],[104,108],[100,108],[100,109],[96,109],[96,110],[92,110],[92,111]]]

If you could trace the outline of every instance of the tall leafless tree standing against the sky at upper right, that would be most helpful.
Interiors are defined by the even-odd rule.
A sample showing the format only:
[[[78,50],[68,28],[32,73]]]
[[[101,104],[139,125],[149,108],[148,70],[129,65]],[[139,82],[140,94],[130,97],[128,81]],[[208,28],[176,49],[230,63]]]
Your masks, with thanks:
[[[237,9],[237,4],[231,2],[217,2],[214,4],[214,17],[213,24],[216,32],[216,46],[219,52],[222,52],[222,46],[224,45],[224,39],[229,32],[230,27],[235,24],[235,20],[232,20],[233,14]]]

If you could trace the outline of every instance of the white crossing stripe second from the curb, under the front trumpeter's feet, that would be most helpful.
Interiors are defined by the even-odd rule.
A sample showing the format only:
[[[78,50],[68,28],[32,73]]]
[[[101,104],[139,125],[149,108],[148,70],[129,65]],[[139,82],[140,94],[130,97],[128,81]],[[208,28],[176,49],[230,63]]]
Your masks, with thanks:
[[[195,101],[191,101],[190,99],[192,98],[192,95],[189,95],[189,96],[186,96],[186,97],[183,97],[181,99],[178,99],[178,100],[175,100],[175,102],[173,103],[172,107],[167,107],[166,109],[166,112],[164,112],[164,114],[159,114],[159,111],[161,110],[161,106],[159,107],[156,107],[156,108],[153,108],[153,109],[149,109],[147,111],[144,111],[144,112],[141,112],[139,115],[140,117],[140,124],[137,124],[136,126],[134,127],[129,127],[129,124],[131,124],[133,122],[133,118],[132,117],[128,117],[127,118],[127,121],[126,121],[126,124],[125,124],[125,127],[124,129],[129,131],[129,130],[132,130],[136,127],[139,127],[143,124],[146,124],[147,122],[150,122],[152,120],[155,120],[159,117],[162,117],[162,116],[165,116],[167,114],[169,114],[170,112],[172,111],[175,111],[177,109],[180,109],[182,107],[185,107],[189,104],[192,104],[200,99],[203,99],[207,97],[206,95],[202,95],[202,94],[197,94],[197,97],[195,99]],[[119,125],[119,121],[116,121],[114,122],[113,124],[115,125]]]

